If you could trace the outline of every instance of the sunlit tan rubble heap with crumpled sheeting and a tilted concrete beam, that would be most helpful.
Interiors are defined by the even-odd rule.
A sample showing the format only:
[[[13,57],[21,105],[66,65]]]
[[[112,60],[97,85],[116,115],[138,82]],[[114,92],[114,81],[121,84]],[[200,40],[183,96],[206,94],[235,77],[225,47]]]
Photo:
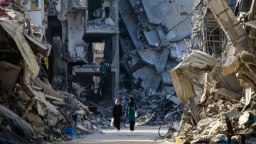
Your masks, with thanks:
[[[192,38],[198,38],[198,48],[191,48],[191,54],[169,73],[184,108],[178,130],[176,125],[169,129],[171,141],[227,143],[228,133],[234,131],[245,134],[246,143],[255,143],[256,3],[238,1],[233,12],[233,2],[196,4]],[[209,40],[209,34],[216,32],[220,38]],[[232,143],[241,140],[240,135],[232,137]]]

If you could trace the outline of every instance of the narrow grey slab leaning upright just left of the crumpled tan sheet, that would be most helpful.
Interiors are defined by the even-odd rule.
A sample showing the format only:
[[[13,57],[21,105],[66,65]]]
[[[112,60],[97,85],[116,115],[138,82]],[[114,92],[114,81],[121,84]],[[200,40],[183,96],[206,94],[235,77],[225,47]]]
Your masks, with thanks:
[[[161,53],[161,56],[159,58],[158,65],[156,67],[156,73],[157,74],[161,74],[161,73],[164,72],[168,56],[169,56],[169,49],[168,48],[164,48],[164,50]]]

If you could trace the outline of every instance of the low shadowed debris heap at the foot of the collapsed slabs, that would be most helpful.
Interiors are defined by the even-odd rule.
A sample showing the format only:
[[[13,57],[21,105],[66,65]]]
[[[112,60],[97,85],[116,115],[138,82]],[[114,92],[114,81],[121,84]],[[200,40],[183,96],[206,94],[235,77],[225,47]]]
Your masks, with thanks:
[[[169,121],[181,121],[182,113],[176,113],[163,123],[166,113],[181,109],[175,95],[171,96],[151,91],[145,93],[142,89],[134,89],[132,92],[128,92],[127,89],[122,89],[120,90],[120,102],[124,112],[129,97],[134,97],[138,106],[136,126],[160,126],[161,124],[169,124]],[[123,122],[124,124],[127,123],[127,121]]]

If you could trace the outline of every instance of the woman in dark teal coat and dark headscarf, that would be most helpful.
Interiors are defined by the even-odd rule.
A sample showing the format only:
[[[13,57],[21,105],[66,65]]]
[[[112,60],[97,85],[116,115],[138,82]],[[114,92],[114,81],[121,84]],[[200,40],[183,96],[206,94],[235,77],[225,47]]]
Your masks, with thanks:
[[[127,104],[127,108],[125,111],[125,117],[128,116],[130,131],[134,131],[135,111],[137,111],[137,105],[134,103],[134,99],[132,97],[130,97],[129,104]]]

